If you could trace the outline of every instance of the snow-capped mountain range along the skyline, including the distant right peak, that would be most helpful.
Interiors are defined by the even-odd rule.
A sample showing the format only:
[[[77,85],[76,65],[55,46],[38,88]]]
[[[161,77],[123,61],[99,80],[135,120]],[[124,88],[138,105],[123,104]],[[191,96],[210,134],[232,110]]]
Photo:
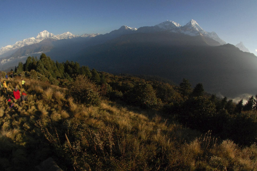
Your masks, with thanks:
[[[183,33],[183,34],[190,35],[190,36],[202,35],[204,37],[207,37],[207,38],[210,38],[210,39],[213,39],[213,40],[219,42],[221,45],[226,44],[226,42],[224,40],[222,40],[221,38],[219,38],[215,32],[207,32],[204,29],[202,29],[195,20],[189,21],[184,26],[181,26],[179,23],[176,23],[174,21],[169,21],[169,20],[164,21],[155,26],[144,26],[144,27],[140,27],[139,29],[131,28],[126,25],[123,25],[118,30],[113,30],[110,33],[101,35],[102,36],[101,38],[105,38],[105,40],[110,40],[110,39],[116,38],[116,37],[124,35],[124,34],[151,33],[151,32],[160,32],[160,31]],[[49,33],[48,31],[44,30],[44,31],[38,33],[36,38],[32,37],[32,38],[24,39],[22,41],[17,41],[13,45],[8,45],[5,47],[2,47],[0,49],[0,55],[2,58],[9,56],[21,47],[28,46],[28,45],[31,45],[34,43],[39,43],[42,40],[45,40],[48,38],[60,40],[60,39],[73,39],[73,38],[77,38],[77,37],[93,38],[93,37],[98,37],[99,35],[100,34],[97,33],[97,34],[83,34],[83,35],[79,36],[79,35],[74,35],[70,32],[54,35],[53,33]],[[242,51],[249,52],[249,50],[247,48],[245,48],[242,43],[237,44],[237,47]]]

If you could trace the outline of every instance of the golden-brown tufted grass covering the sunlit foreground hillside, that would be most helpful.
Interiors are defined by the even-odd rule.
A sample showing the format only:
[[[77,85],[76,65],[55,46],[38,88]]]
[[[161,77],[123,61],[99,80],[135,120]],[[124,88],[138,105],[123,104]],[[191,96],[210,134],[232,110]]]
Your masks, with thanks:
[[[117,90],[128,87],[128,80],[146,81],[105,76]],[[121,98],[110,101],[100,93],[97,105],[88,105],[69,86],[35,77],[25,81],[22,88],[21,77],[7,80],[10,95],[15,86],[28,94],[22,107],[13,98],[9,108],[12,101],[6,94],[0,97],[0,170],[35,170],[48,157],[62,170],[256,170],[255,144],[238,146],[211,131],[186,128],[176,114],[158,107],[142,108]],[[87,88],[95,86],[86,83],[92,84]]]

